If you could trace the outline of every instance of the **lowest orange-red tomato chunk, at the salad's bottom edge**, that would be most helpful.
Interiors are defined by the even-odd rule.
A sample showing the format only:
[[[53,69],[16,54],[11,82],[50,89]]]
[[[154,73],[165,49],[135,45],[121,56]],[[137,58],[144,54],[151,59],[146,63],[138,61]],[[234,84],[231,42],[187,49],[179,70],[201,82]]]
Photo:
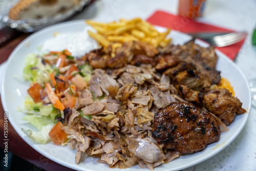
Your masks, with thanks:
[[[62,127],[63,124],[59,121],[52,127],[51,131],[49,132],[49,136],[55,145],[61,145],[61,143],[67,138],[66,132],[61,129]]]

